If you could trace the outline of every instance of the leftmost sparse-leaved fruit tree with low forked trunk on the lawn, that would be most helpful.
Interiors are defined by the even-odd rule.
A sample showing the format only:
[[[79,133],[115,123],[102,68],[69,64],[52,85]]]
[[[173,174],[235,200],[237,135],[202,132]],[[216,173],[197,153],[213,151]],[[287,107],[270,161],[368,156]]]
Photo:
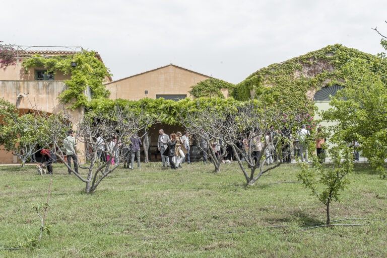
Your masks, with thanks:
[[[81,121],[63,113],[58,113],[54,117],[55,119],[51,118],[51,125],[46,128],[50,139],[46,145],[72,174],[86,184],[85,192],[89,194],[122,163],[123,158],[126,158],[127,153],[121,151],[121,146],[124,144],[128,146],[132,136],[157,123],[160,115],[148,114],[145,108],[132,109],[115,105],[108,112],[91,111],[85,114]],[[70,124],[69,121],[73,123]],[[75,131],[77,145],[85,146],[84,152],[79,150],[76,152],[79,171],[69,165],[64,158],[66,151],[63,148],[62,135],[70,129]],[[43,135],[41,138],[43,139]],[[109,159],[103,158],[107,156]],[[82,164],[84,162],[80,161],[87,162]]]

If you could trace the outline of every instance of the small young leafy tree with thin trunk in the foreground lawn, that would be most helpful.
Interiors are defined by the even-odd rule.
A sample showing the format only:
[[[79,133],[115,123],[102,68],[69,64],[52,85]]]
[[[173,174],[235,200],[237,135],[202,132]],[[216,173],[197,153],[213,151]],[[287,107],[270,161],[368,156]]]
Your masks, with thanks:
[[[312,195],[326,206],[327,224],[331,223],[330,205],[340,200],[340,191],[344,191],[349,184],[346,176],[352,172],[352,153],[346,145],[335,146],[329,149],[333,167],[328,167],[319,162],[313,155],[312,165],[300,163],[301,172],[297,178],[311,190]]]

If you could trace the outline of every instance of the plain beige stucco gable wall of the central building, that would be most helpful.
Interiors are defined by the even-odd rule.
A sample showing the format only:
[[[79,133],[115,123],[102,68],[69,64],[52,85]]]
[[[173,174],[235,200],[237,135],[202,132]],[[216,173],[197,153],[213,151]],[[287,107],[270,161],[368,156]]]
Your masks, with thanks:
[[[156,95],[187,95],[191,86],[209,76],[168,65],[128,78],[106,83],[110,99],[140,100],[156,99]],[[144,92],[148,91],[146,95]]]

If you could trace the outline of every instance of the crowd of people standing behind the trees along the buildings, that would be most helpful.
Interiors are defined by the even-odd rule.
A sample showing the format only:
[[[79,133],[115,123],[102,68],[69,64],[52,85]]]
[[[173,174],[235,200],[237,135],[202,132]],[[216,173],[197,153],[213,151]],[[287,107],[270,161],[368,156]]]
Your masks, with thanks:
[[[199,137],[199,149],[201,153],[201,159],[204,163],[208,163],[209,148],[213,148],[216,157],[219,160],[234,161],[235,152],[232,146],[225,146],[222,142],[222,138],[209,139],[207,133],[201,130],[201,137]],[[281,137],[279,137],[281,136]],[[306,126],[301,125],[301,129],[297,130],[295,134],[292,133],[291,128],[278,128],[275,130],[274,125],[269,127],[264,137],[257,133],[257,129],[251,130],[248,139],[239,139],[234,146],[239,148],[237,155],[239,160],[244,161],[247,159],[248,149],[251,148],[251,158],[254,162],[259,161],[261,152],[266,157],[266,164],[270,165],[277,162],[279,158],[282,158],[282,162],[290,163],[296,162],[296,159],[300,159],[301,162],[308,162],[308,144],[310,141],[315,141],[315,148],[319,162],[325,162],[324,144],[326,138],[321,133],[321,128],[317,128],[317,133],[314,136],[310,135],[310,131],[306,129]],[[99,160],[109,162],[111,165],[120,162],[120,158],[123,160],[123,167],[128,169],[134,169],[135,157],[137,157],[137,168],[141,169],[140,148],[142,147],[141,138],[135,133],[130,141],[122,143],[117,140],[117,135],[103,139],[101,135],[97,135],[96,138],[97,151],[96,155]],[[280,145],[280,147],[278,147]],[[355,147],[354,159],[359,159],[359,152],[356,151],[359,147],[357,142],[353,143]],[[63,148],[66,150],[66,157],[68,162],[68,172],[71,174],[72,160],[74,164],[73,170],[78,173],[78,158],[76,139],[74,137],[74,131],[68,131],[68,136],[63,139]],[[157,148],[161,154],[162,167],[170,167],[172,169],[181,168],[181,164],[186,162],[191,163],[190,160],[190,137],[189,132],[182,134],[180,131],[165,134],[163,129],[159,130],[159,137],[157,141]],[[222,154],[222,148],[225,148],[225,152]],[[277,153],[280,150],[280,153]],[[48,174],[52,174],[52,164],[56,163],[55,154],[49,149],[42,149],[41,165],[47,167]]]

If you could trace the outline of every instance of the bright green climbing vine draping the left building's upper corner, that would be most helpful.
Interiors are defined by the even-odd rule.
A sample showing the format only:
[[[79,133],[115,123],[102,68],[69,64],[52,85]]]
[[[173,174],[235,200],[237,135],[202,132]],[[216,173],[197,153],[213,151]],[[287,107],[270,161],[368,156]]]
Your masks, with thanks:
[[[109,75],[109,69],[98,60],[94,51],[82,51],[74,56],[53,56],[53,58],[43,58],[40,55],[34,55],[33,58],[25,59],[22,63],[26,73],[31,67],[43,67],[47,72],[56,73],[58,71],[71,74],[69,80],[64,80],[67,90],[59,95],[63,103],[75,102],[72,109],[81,106],[88,106],[87,91],[90,89],[90,98],[107,98],[110,92],[102,84]],[[54,58],[55,57],[55,58]],[[72,59],[63,59],[58,57],[72,57]],[[71,65],[76,62],[76,66]]]

